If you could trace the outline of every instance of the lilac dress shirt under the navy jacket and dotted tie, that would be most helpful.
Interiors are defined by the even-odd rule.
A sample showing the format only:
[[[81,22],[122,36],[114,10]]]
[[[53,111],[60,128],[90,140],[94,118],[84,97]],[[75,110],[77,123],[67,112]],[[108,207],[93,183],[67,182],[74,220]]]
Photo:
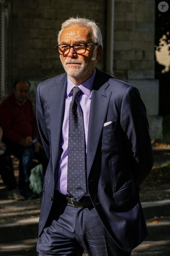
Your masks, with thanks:
[[[81,107],[81,111],[84,119],[86,153],[87,153],[87,134],[88,134],[88,125],[89,125],[91,91],[93,87],[95,74],[96,74],[96,70],[88,80],[86,80],[83,84],[79,85],[79,88],[81,89],[82,93],[79,96],[78,104]],[[60,157],[59,169],[57,172],[57,183],[56,183],[56,189],[64,195],[68,195],[67,160],[68,160],[68,133],[69,133],[69,105],[70,105],[70,102],[72,101],[73,87],[75,87],[75,85],[71,82],[71,80],[67,76],[67,93],[66,93],[66,99],[65,99],[65,112],[64,112],[64,119],[63,119],[63,125],[62,125],[61,157]],[[85,158],[86,158],[86,153],[85,153]],[[87,183],[87,180],[86,180],[86,183]],[[85,196],[89,196],[89,193],[86,192]]]

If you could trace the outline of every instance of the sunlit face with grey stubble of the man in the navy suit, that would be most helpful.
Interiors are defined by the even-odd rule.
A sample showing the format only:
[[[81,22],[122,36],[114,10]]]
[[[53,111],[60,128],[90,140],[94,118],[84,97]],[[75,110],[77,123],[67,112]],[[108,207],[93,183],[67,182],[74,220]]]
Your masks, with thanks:
[[[62,31],[60,44],[72,46],[80,42],[93,43],[91,31],[88,28],[73,25]],[[84,54],[76,54],[71,48],[68,54],[60,55],[62,65],[69,77],[74,77],[74,79],[84,77],[86,80],[93,74],[97,62],[96,47],[98,46],[87,46]]]

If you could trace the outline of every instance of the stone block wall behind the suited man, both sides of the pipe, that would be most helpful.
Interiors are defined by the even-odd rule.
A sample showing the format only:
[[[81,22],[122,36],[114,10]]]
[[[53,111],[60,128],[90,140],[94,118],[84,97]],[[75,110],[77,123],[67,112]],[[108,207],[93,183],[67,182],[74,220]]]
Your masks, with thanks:
[[[55,48],[56,32],[60,30],[61,23],[71,16],[91,17],[99,24],[103,34],[103,56],[97,67],[105,71],[107,36],[110,33],[107,25],[107,4],[110,1],[7,0],[9,3],[6,36],[7,92],[9,93],[16,79],[28,79],[32,82],[30,95],[35,102],[35,89],[38,83],[64,72]],[[113,74],[140,90],[151,120],[154,118],[152,110],[154,109],[154,115],[157,116],[159,106],[159,84],[154,79],[154,1],[115,0],[114,2],[114,40],[109,42],[114,46],[113,53],[110,52],[114,58]],[[161,119],[154,118],[154,120],[156,126],[161,127]],[[155,137],[154,133],[151,137]]]

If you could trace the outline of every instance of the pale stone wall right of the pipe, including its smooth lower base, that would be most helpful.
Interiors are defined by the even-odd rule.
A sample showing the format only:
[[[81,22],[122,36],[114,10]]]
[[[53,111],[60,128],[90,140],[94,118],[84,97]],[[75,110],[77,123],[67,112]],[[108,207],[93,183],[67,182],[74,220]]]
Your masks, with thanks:
[[[155,3],[115,0],[114,76],[140,91],[147,109],[151,138],[162,138],[159,81],[155,79]]]

